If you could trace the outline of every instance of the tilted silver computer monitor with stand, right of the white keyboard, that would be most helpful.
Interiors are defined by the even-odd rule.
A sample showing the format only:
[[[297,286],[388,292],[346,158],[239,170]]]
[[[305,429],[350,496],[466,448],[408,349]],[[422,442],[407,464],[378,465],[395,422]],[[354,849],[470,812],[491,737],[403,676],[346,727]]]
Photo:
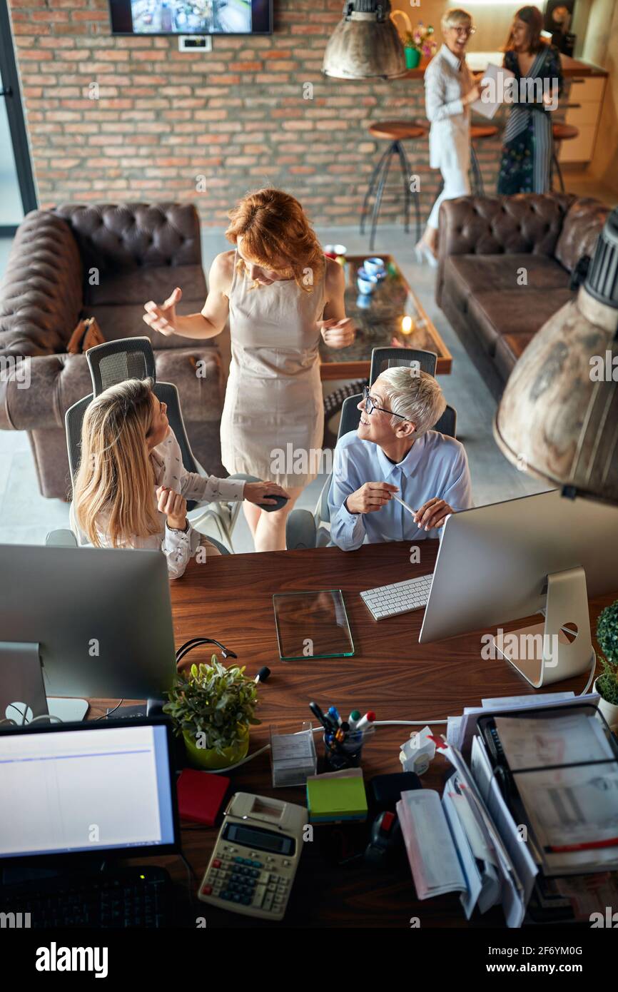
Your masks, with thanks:
[[[618,592],[618,508],[557,491],[463,510],[444,525],[421,644],[546,612],[495,643],[540,688],[591,665],[588,596]],[[577,627],[572,643],[567,624]],[[534,640],[532,640],[534,639]],[[514,657],[521,644],[532,657]],[[491,645],[487,644],[491,651]],[[541,655],[539,654],[540,649]],[[492,656],[489,656],[492,657]]]

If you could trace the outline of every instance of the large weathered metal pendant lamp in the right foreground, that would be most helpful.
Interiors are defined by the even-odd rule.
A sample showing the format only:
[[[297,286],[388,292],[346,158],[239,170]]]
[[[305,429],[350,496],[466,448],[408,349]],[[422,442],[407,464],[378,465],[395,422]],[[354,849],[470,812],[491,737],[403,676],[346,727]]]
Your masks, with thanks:
[[[494,436],[510,461],[564,496],[618,505],[618,207],[576,299],[513,369]]]

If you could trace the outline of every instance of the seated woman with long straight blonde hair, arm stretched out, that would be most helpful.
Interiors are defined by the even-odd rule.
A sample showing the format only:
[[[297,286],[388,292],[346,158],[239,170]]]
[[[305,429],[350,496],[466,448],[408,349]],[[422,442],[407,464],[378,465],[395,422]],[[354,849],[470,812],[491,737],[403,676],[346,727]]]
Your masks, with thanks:
[[[170,428],[167,406],[151,379],[128,379],[104,390],[87,408],[81,428],[81,461],[73,486],[71,526],[95,548],[151,548],[180,578],[201,544],[214,545],[186,520],[186,500],[249,500],[287,493],[272,482],[217,479],[187,472]]]

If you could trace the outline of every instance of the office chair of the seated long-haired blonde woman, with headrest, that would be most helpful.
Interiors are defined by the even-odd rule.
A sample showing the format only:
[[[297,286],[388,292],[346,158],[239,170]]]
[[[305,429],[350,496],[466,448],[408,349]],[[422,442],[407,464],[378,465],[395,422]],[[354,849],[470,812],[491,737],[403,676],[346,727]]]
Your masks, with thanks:
[[[155,355],[148,337],[129,337],[97,344],[86,351],[86,361],[90,370],[93,392],[73,404],[66,411],[64,417],[71,480],[75,477],[79,465],[83,417],[92,399],[118,382],[123,382],[126,379],[145,378],[153,380],[154,393],[168,407],[168,420],[181,447],[186,471],[195,472],[202,476],[206,475],[191,451],[177,387],[170,382],[157,382]],[[232,478],[236,478],[236,476],[232,476]],[[189,524],[195,531],[206,536],[218,548],[224,549],[224,546],[213,539],[206,529],[208,525],[214,527],[218,537],[226,541],[230,548],[232,547],[232,533],[240,512],[240,502],[198,504],[188,500],[186,509]],[[228,553],[227,549],[224,550]]]

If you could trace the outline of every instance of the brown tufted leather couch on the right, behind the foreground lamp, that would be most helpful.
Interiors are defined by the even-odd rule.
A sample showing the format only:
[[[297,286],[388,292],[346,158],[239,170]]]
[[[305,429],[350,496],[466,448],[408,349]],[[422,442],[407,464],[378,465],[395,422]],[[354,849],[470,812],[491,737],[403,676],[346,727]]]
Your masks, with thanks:
[[[496,397],[526,345],[572,299],[609,208],[571,193],[461,196],[439,213],[435,299]]]

